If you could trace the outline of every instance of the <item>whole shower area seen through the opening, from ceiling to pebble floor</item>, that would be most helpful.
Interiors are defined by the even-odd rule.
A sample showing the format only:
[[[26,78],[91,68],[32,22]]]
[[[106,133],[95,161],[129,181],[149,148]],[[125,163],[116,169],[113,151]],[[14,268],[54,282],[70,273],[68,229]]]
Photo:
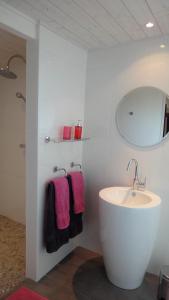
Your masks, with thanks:
[[[26,41],[0,29],[0,298],[25,275]]]

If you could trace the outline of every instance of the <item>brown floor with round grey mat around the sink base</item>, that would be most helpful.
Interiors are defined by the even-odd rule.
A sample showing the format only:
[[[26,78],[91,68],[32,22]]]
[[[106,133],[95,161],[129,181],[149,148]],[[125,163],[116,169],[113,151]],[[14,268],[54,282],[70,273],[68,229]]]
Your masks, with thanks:
[[[49,300],[156,300],[157,285],[158,278],[149,274],[136,290],[117,288],[106,277],[102,257],[83,248],[76,248],[40,282],[24,282]]]

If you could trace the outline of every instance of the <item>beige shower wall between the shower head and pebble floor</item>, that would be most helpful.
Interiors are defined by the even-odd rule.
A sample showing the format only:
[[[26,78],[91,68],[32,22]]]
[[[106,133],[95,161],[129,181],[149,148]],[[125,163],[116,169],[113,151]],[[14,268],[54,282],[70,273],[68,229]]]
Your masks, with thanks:
[[[26,66],[11,62],[15,80],[0,77],[0,214],[25,224],[25,103]]]

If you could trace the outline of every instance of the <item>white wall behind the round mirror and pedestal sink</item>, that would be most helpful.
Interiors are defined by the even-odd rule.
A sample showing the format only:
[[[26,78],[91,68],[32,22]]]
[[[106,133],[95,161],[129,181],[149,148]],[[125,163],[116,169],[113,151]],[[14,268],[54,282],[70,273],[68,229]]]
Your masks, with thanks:
[[[119,135],[115,112],[119,101],[132,89],[154,86],[169,94],[169,50],[160,49],[163,39],[136,42],[88,56],[85,107],[86,134],[83,165],[87,176],[86,229],[82,245],[101,251],[98,224],[98,192],[107,186],[129,185],[133,174],[126,172],[136,158],[147,176],[147,188],[162,198],[162,217],[149,270],[158,272],[169,264],[169,141],[141,150]],[[169,44],[166,38],[165,43]]]

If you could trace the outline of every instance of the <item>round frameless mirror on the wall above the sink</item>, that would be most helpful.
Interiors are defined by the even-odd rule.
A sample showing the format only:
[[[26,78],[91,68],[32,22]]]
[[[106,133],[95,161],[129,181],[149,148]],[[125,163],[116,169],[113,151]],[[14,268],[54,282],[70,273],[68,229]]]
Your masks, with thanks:
[[[169,96],[154,87],[139,87],[123,97],[116,111],[120,134],[129,143],[150,147],[169,131]]]

